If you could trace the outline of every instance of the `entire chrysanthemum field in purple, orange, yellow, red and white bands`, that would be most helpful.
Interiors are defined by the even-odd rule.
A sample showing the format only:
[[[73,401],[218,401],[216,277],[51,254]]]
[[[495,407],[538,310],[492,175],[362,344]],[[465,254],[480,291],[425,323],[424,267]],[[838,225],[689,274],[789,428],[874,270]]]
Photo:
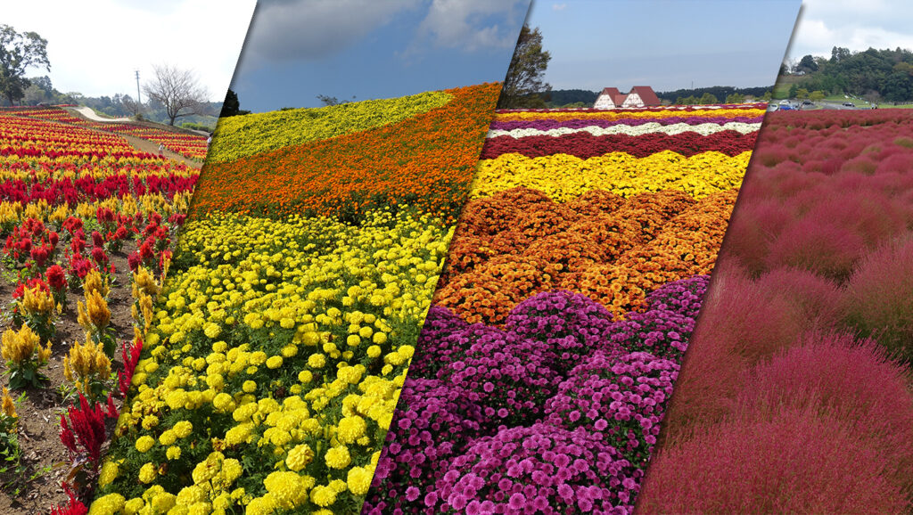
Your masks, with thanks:
[[[499,111],[363,512],[630,512],[763,112]]]

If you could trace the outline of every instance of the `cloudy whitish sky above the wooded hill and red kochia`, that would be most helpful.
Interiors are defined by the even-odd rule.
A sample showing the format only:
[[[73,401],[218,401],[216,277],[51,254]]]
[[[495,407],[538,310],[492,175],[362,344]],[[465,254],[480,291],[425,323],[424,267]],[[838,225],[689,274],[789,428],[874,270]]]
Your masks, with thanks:
[[[789,58],[831,57],[833,47],[913,49],[913,5],[906,0],[805,0]]]

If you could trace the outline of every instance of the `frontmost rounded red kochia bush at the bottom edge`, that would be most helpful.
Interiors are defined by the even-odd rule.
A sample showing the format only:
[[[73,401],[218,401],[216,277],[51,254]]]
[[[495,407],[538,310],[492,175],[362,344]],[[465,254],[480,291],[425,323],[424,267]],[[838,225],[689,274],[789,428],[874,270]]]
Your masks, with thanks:
[[[784,410],[760,420],[748,414],[658,451],[636,512],[908,512],[903,490],[883,473],[887,466],[852,422],[826,410]]]

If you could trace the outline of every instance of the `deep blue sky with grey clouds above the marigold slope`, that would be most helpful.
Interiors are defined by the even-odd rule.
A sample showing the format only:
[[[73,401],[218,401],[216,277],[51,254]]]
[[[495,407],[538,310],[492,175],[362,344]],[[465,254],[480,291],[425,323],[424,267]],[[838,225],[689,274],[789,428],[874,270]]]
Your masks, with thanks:
[[[319,107],[504,80],[530,0],[260,0],[241,109]]]

